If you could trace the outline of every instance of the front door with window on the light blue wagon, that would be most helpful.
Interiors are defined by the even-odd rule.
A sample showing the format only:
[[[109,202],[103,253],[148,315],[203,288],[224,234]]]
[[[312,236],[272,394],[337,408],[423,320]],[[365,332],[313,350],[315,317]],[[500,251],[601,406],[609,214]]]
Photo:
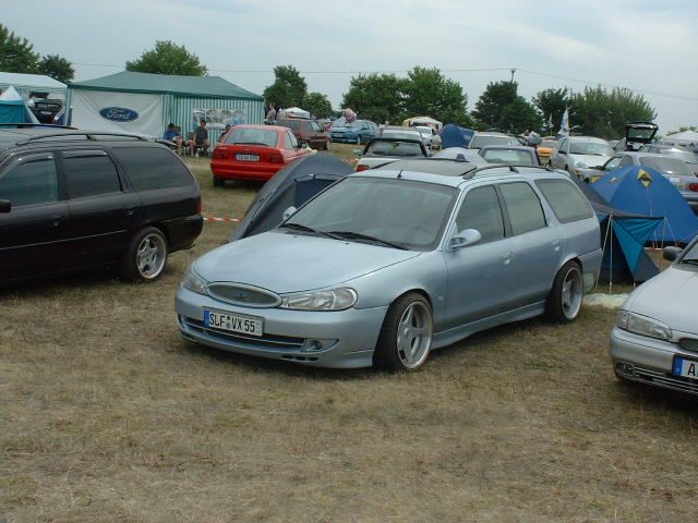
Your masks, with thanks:
[[[448,271],[446,329],[506,311],[510,289],[517,282],[512,239],[507,238],[494,185],[476,186],[465,195],[452,230],[456,233],[466,229],[477,229],[482,239],[473,245],[444,251]]]

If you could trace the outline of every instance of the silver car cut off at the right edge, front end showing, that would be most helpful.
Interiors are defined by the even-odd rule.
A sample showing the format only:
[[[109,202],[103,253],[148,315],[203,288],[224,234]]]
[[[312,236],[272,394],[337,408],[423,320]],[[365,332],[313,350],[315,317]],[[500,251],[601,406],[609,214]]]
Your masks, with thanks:
[[[636,289],[611,332],[611,360],[622,380],[698,396],[698,238],[674,263]]]

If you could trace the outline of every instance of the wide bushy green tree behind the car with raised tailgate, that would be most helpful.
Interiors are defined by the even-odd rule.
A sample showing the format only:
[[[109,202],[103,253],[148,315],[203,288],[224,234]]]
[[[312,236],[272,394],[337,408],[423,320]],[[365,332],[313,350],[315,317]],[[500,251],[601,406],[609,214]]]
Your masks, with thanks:
[[[570,100],[570,125],[579,125],[585,134],[607,139],[625,135],[625,124],[651,121],[657,112],[642,95],[626,87],[607,90],[601,86],[585,87]]]

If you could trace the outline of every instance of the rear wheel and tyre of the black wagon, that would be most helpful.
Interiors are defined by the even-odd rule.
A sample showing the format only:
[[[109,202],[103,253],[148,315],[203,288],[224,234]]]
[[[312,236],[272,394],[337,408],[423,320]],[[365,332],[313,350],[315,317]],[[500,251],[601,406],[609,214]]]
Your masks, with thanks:
[[[153,281],[165,270],[167,240],[155,227],[141,229],[132,239],[121,265],[121,276],[129,281]]]

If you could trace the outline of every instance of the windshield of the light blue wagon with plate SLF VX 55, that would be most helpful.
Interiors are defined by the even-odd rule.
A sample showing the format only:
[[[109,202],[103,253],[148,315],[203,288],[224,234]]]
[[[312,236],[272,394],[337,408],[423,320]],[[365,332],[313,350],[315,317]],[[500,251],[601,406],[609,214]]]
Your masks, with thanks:
[[[456,188],[434,183],[349,177],[321,193],[287,224],[345,233],[347,239],[346,233],[358,233],[412,251],[431,251],[457,195]]]

